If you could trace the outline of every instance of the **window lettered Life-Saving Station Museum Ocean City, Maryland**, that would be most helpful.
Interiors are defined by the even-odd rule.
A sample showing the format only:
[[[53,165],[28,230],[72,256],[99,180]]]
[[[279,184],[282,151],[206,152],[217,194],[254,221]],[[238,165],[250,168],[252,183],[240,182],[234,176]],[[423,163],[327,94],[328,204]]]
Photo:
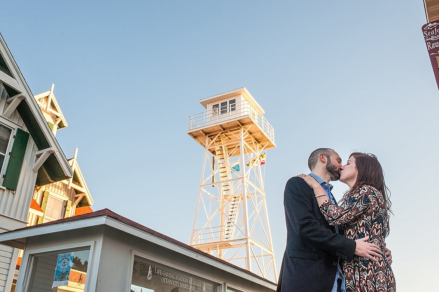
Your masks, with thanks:
[[[216,292],[217,286],[191,274],[134,257],[131,292]]]

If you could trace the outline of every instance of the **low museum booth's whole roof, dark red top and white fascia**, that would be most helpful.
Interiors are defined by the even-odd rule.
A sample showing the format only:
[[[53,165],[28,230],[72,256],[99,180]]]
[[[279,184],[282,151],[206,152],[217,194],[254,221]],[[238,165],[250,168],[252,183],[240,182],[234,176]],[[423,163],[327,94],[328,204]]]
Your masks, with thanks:
[[[107,220],[109,219],[109,220]],[[93,213],[87,213],[79,216],[73,216],[68,218],[59,219],[43,224],[37,224],[34,226],[18,228],[12,231],[6,231],[0,234],[0,243],[16,248],[24,248],[26,238],[50,234],[59,231],[74,230],[84,227],[92,227],[97,225],[107,225],[123,232],[130,232],[130,234],[144,238],[155,244],[162,245],[169,249],[169,246],[174,246],[174,250],[191,254],[194,259],[200,260],[205,263],[209,263],[212,266],[218,267],[222,270],[236,274],[242,278],[252,278],[252,281],[257,282],[260,285],[275,289],[276,284],[270,280],[267,280],[261,276],[253,274],[252,272],[245,270],[241,267],[237,267],[232,263],[221,260],[215,256],[212,256],[206,252],[202,252],[190,245],[183,242],[179,242],[174,238],[170,238],[164,234],[154,231],[146,226],[143,226],[133,220],[125,218],[117,213],[114,213],[110,209],[102,209]],[[130,227],[130,228],[126,228]],[[127,231],[129,230],[129,231]]]

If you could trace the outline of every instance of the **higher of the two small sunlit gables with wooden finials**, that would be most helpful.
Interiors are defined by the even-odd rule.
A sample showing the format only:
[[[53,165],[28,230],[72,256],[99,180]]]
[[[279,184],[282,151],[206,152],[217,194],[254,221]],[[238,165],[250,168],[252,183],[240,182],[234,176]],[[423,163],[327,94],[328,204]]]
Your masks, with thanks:
[[[41,112],[43,112],[46,121],[53,121],[57,125],[58,129],[67,127],[67,121],[61,112],[61,108],[58,105],[58,101],[54,95],[54,84],[50,87],[50,90],[37,94],[34,96],[36,103],[40,106]],[[54,132],[54,134],[56,131]]]

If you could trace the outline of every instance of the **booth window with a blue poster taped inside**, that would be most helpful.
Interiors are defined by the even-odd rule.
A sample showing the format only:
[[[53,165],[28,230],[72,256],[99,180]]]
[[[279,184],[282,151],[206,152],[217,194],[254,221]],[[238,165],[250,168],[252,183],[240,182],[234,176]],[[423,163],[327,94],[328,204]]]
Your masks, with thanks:
[[[32,276],[27,291],[84,291],[89,256],[90,249],[34,256]],[[56,287],[57,285],[59,286]]]

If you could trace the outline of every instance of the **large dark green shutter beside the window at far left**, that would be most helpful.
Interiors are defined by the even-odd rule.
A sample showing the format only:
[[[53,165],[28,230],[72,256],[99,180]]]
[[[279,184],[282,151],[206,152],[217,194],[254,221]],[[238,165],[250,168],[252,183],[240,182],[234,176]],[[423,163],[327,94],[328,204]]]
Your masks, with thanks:
[[[9,162],[7,164],[6,173],[4,175],[3,186],[11,190],[17,189],[18,178],[22,170],[23,159],[25,158],[25,151],[29,140],[29,133],[21,129],[17,129],[15,133],[14,145],[9,154]]]

